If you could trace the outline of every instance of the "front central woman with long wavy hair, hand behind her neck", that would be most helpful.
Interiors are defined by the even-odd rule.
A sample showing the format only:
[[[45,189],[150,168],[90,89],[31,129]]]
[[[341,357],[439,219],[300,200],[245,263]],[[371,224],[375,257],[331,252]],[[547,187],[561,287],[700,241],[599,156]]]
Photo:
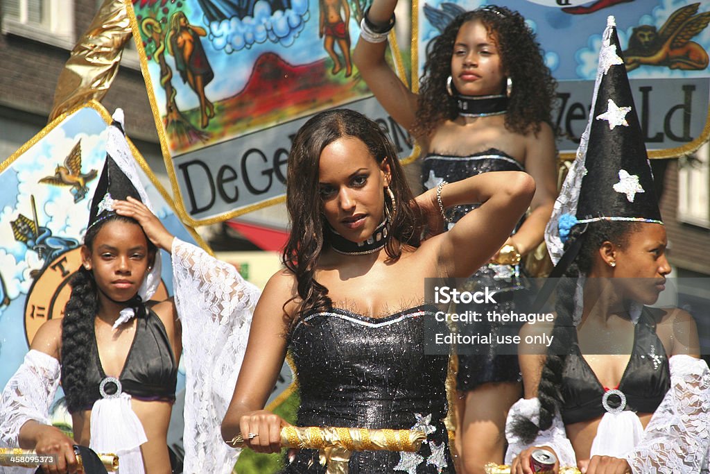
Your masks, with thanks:
[[[534,183],[519,171],[472,176],[413,199],[397,153],[376,122],[340,109],[310,119],[288,158],[291,235],[286,269],[254,311],[244,364],[222,436],[280,450],[285,421],[263,407],[287,351],[300,392],[299,426],[419,429],[417,453],[354,452],[350,472],[453,473],[444,417],[448,347],[425,352],[436,309],[425,279],[471,274],[528,208]],[[481,203],[450,232],[421,240],[424,217]],[[439,209],[442,206],[442,209]],[[468,242],[475,249],[465,250]],[[288,473],[324,473],[300,450]]]

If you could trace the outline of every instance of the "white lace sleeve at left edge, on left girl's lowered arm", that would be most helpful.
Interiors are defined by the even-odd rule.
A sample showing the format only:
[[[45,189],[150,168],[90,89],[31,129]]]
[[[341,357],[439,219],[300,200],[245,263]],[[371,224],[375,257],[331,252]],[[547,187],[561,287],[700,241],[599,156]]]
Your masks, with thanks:
[[[50,424],[49,407],[59,386],[59,361],[31,350],[0,398],[0,441],[7,447],[20,446],[20,429],[27,421]]]

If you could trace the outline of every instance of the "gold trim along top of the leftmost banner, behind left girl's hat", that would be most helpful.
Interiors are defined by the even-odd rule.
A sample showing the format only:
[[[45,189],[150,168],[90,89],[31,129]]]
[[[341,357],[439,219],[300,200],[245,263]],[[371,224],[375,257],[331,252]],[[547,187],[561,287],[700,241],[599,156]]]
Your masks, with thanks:
[[[99,104],[99,102],[96,102],[95,100],[89,100],[86,104],[81,104],[81,105],[76,105],[72,109],[67,110],[66,112],[60,113],[52,122],[48,123],[47,126],[45,126],[43,129],[41,129],[35,136],[33,136],[31,139],[29,139],[23,146],[21,146],[15,153],[12,153],[9,158],[7,158],[5,161],[0,163],[0,173],[5,171],[9,166],[23,153],[28,151],[28,149],[31,149],[35,144],[37,144],[38,141],[43,139],[45,136],[47,136],[50,131],[53,131],[57,126],[59,126],[67,117],[69,117],[72,114],[75,114],[76,112],[79,112],[81,109],[94,109],[94,111],[98,112],[98,114],[104,119],[104,122],[106,122],[107,125],[111,124],[113,122],[113,119],[111,119],[111,114],[107,111],[107,109],[104,108],[102,104]],[[160,184],[160,181],[158,181],[158,178],[155,177],[155,174],[153,174],[153,171],[151,168],[148,166],[148,163],[146,163],[145,158],[141,155],[140,151],[136,148],[135,145],[133,145],[133,142],[131,139],[129,139],[126,136],[126,141],[128,141],[129,148],[131,149],[131,153],[133,153],[133,158],[136,160],[136,163],[138,163],[138,166],[141,166],[141,169],[143,170],[144,173],[146,173],[146,176],[151,180],[151,183],[155,186],[155,189],[158,190],[158,193],[160,193],[160,196],[165,200],[165,203],[170,206],[170,209],[175,212],[175,215],[180,216],[178,212],[178,206],[175,205],[175,201],[173,198],[170,197],[168,194],[168,191],[163,188],[163,185]],[[185,221],[183,221],[184,223]],[[202,237],[195,232],[195,229],[192,228],[192,226],[185,224],[185,229],[187,229],[187,232],[190,233],[193,239],[195,239],[195,242],[197,242],[202,249],[205,250],[205,252],[209,253],[210,255],[214,255],[214,252],[212,252],[212,249],[209,248],[209,245],[207,245],[207,242],[204,242]]]

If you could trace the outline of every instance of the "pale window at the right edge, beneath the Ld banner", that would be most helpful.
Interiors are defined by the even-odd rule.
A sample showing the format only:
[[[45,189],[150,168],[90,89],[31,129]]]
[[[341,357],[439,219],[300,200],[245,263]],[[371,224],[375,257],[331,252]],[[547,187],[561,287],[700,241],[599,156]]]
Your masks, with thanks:
[[[710,145],[678,162],[678,219],[710,229]]]

